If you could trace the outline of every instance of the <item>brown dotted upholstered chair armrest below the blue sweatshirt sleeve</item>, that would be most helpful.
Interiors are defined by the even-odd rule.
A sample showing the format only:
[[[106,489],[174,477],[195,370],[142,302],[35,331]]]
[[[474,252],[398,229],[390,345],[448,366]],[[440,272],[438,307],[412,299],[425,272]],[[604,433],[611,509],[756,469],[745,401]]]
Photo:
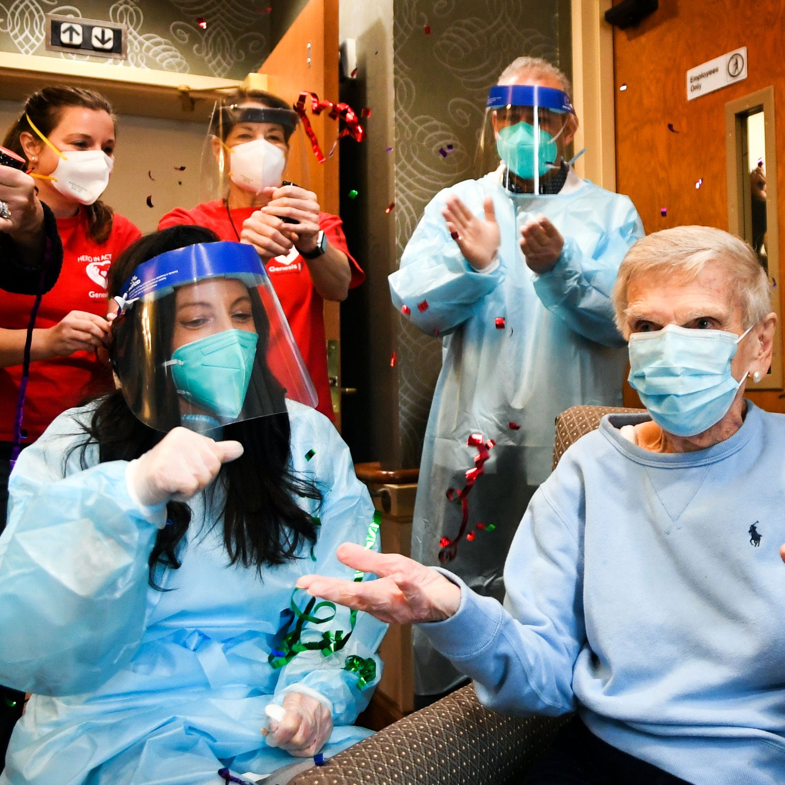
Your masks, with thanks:
[[[517,782],[570,716],[504,717],[481,706],[469,685],[302,772],[291,785]]]

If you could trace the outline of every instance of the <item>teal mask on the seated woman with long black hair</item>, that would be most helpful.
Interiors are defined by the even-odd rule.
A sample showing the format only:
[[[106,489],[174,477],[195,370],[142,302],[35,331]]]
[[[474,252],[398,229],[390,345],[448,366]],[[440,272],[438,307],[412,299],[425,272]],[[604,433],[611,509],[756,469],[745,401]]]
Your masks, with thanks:
[[[247,330],[224,330],[175,349],[166,364],[177,392],[218,418],[235,420],[243,410],[258,340]]]

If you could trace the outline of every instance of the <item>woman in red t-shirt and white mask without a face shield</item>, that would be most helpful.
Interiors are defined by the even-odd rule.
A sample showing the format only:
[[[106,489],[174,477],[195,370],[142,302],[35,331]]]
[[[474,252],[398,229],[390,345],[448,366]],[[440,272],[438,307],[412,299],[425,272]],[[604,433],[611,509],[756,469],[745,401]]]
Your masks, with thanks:
[[[27,160],[39,198],[57,218],[64,250],[60,277],[43,296],[33,330],[24,446],[87,395],[112,389],[111,372],[97,352],[109,330],[106,274],[141,232],[98,199],[115,149],[115,118],[99,93],[64,86],[34,93],[2,144]],[[0,531],[33,301],[0,291]]]

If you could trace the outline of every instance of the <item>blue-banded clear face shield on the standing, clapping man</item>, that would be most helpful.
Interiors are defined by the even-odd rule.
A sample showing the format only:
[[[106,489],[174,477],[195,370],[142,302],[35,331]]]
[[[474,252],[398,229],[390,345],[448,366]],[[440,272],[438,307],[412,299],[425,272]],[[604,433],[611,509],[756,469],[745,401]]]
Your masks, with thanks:
[[[498,171],[513,193],[543,192],[559,173],[575,109],[562,90],[495,85],[488,94],[477,176]]]

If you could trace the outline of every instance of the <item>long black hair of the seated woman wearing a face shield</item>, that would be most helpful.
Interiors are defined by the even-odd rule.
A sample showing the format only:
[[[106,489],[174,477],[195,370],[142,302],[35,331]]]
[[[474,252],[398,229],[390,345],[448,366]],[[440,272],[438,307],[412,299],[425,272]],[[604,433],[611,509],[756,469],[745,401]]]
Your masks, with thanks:
[[[109,269],[109,297],[120,293],[122,284],[142,262],[169,250],[217,241],[214,232],[201,226],[175,226],[137,240],[120,254]],[[256,290],[249,291],[254,318],[257,325],[263,326],[266,317],[261,300]],[[166,295],[155,305],[156,318],[148,320],[145,329],[152,340],[153,353],[156,350],[163,352],[159,358],[165,356],[168,359],[174,327],[174,295]],[[126,316],[115,319],[109,350],[111,363],[130,400],[141,394],[141,384],[144,383],[137,378],[138,375],[144,376],[144,369],[139,374],[138,363],[133,365],[130,362],[134,353],[142,349],[141,341],[144,339],[139,314],[140,309],[134,306]],[[220,516],[223,518],[224,544],[230,563],[254,567],[260,575],[265,564],[283,564],[296,557],[306,542],[316,542],[314,521],[294,498],[313,499],[317,506],[322,501],[316,484],[296,476],[291,469],[289,415],[285,409],[284,390],[265,362],[266,344],[267,335],[260,330],[251,384],[264,384],[272,396],[279,396],[276,409],[283,414],[225,425],[224,438],[239,441],[244,452],[240,458],[221,468],[216,485],[211,487],[205,498],[206,509],[210,509],[214,502],[214,488],[220,484],[225,491]],[[131,367],[136,375],[130,372]],[[165,376],[169,374],[158,374],[156,378],[160,380]],[[159,381],[155,396],[162,396],[156,400],[165,400],[168,396],[177,396],[177,392],[171,382]],[[178,410],[175,406],[169,407],[169,411]],[[179,420],[171,422],[170,427],[179,424]],[[155,447],[166,436],[166,433],[145,425],[133,414],[121,390],[100,400],[86,431],[89,439],[81,447],[83,466],[86,466],[89,444],[98,445],[100,462],[131,461]],[[166,514],[171,523],[159,531],[149,559],[150,584],[156,588],[159,587],[156,580],[159,570],[180,567],[178,546],[191,523],[191,509],[187,503],[168,502]]]

